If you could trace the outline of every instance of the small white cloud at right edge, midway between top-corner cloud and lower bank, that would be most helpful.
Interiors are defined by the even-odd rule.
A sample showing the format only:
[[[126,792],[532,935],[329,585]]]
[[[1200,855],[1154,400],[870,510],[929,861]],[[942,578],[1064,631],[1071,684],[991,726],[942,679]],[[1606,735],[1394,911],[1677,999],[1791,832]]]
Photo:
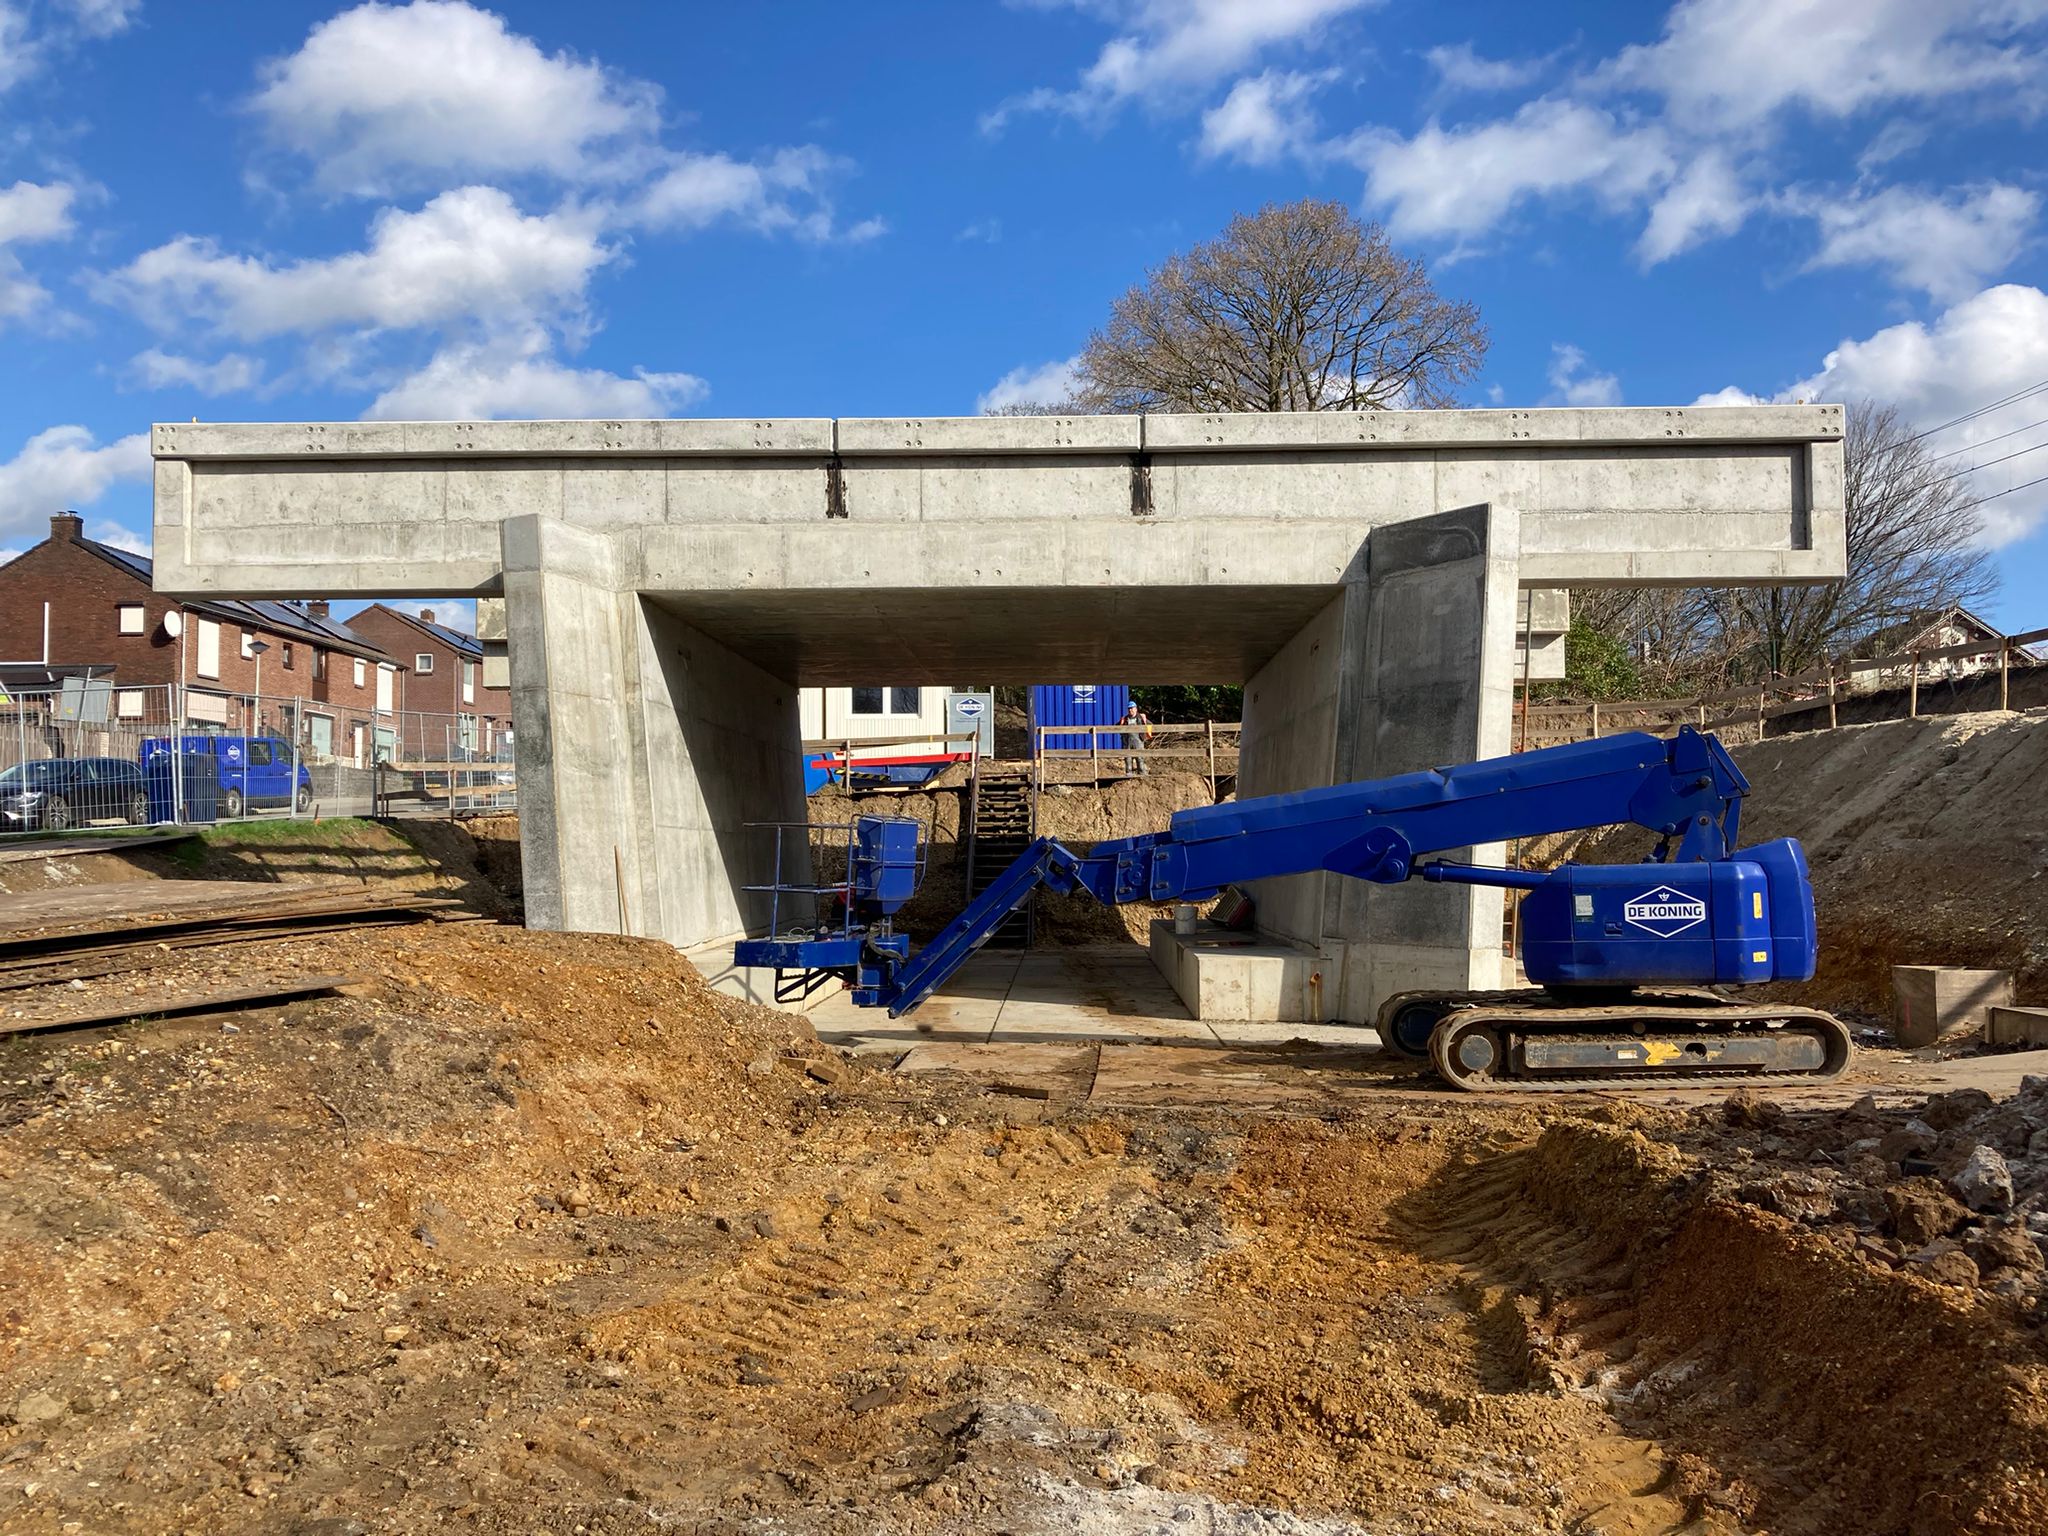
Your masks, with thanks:
[[[1806,268],[1884,266],[1905,287],[1952,301],[1974,293],[2019,256],[2040,197],[2005,182],[1960,188],[1948,197],[1886,186],[1839,201],[1788,195],[1815,217],[1821,248]]]

